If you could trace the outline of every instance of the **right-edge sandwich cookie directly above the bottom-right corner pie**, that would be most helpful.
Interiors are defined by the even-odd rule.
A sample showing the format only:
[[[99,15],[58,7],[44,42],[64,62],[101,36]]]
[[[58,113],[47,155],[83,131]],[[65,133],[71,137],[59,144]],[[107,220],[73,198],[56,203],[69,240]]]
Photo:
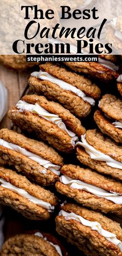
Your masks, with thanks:
[[[55,184],[59,193],[103,213],[122,214],[120,182],[73,164],[64,165],[61,171],[60,182]]]

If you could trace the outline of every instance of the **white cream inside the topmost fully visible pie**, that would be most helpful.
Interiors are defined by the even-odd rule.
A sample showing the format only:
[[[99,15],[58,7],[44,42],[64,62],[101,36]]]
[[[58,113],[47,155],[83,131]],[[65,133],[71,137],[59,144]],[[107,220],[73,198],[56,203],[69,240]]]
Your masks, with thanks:
[[[32,77],[36,77],[42,80],[47,80],[50,81],[54,84],[57,84],[60,88],[62,88],[63,90],[66,91],[70,91],[76,95],[78,95],[79,97],[81,97],[84,101],[87,101],[91,106],[95,105],[95,100],[87,97],[80,89],[78,89],[77,87],[68,84],[60,79],[54,78],[53,76],[51,76],[49,73],[47,72],[43,72],[42,70],[40,70],[39,72],[33,72],[31,74]]]

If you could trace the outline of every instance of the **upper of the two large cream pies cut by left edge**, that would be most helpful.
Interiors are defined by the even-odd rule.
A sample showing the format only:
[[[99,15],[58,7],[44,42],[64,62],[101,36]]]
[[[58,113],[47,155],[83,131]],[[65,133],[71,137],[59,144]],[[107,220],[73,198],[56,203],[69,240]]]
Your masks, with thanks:
[[[59,179],[63,158],[44,142],[28,139],[17,132],[0,130],[0,165],[13,166],[18,172],[43,186]]]

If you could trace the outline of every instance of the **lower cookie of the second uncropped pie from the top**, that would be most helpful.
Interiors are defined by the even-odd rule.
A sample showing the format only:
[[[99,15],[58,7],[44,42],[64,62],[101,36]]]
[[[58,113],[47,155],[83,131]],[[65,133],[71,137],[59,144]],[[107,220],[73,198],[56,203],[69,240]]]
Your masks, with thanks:
[[[17,108],[11,108],[8,116],[14,125],[30,133],[35,132],[39,140],[48,141],[59,151],[69,153],[75,147],[75,142],[66,131],[35,113],[20,112]]]

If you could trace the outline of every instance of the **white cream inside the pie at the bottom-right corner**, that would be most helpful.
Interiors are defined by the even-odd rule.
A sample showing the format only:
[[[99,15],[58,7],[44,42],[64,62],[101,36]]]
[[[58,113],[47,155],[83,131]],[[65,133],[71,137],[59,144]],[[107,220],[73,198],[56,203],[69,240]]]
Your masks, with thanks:
[[[107,240],[109,240],[112,244],[116,245],[119,250],[122,252],[122,243],[117,239],[116,235],[102,229],[101,225],[97,221],[89,221],[81,217],[80,215],[74,213],[67,213],[65,210],[60,210],[59,216],[64,216],[66,220],[76,220],[81,222],[84,226],[91,228],[91,230],[97,231],[100,235],[104,236]]]

